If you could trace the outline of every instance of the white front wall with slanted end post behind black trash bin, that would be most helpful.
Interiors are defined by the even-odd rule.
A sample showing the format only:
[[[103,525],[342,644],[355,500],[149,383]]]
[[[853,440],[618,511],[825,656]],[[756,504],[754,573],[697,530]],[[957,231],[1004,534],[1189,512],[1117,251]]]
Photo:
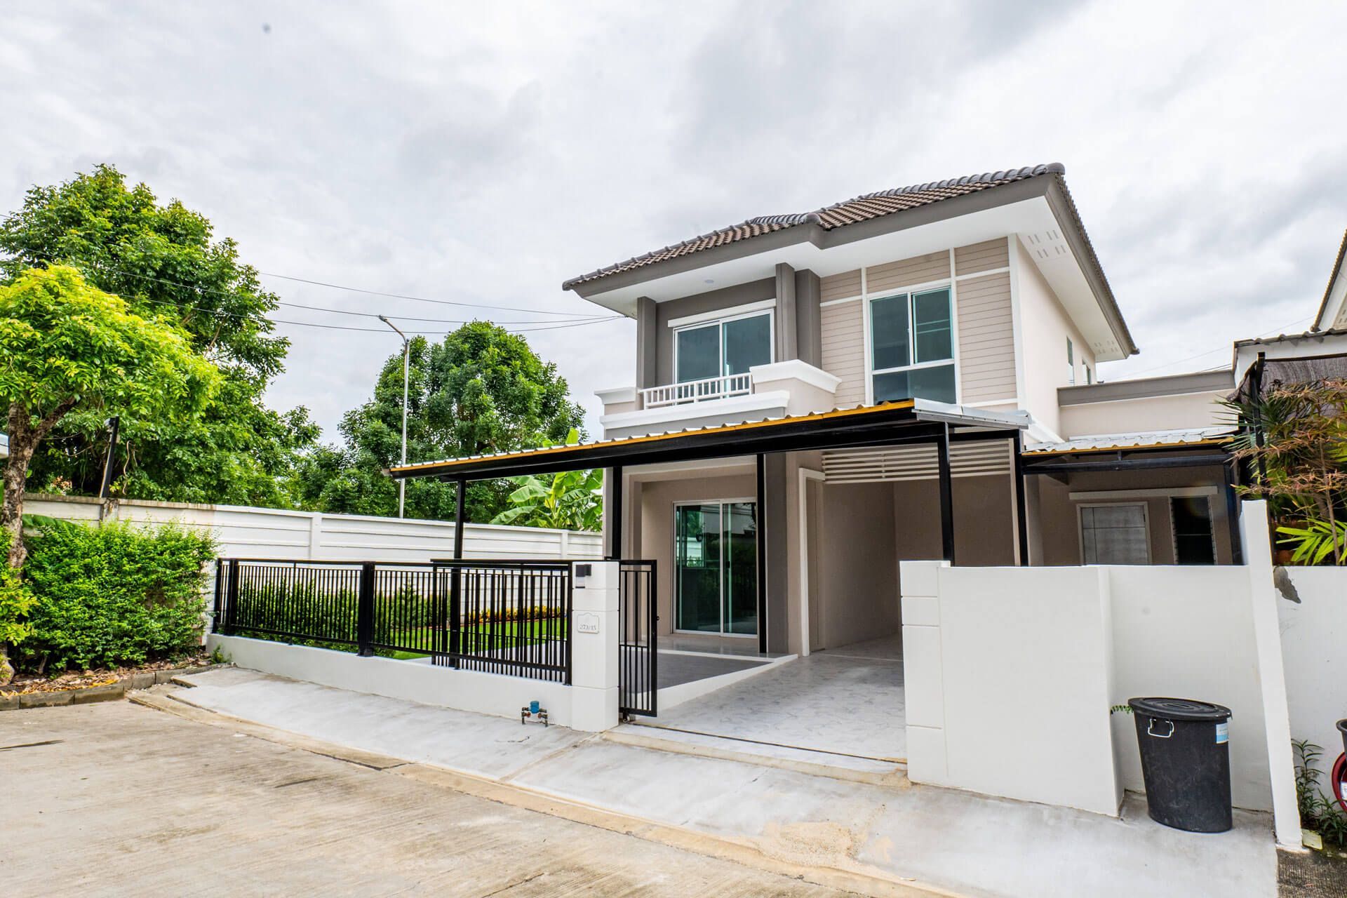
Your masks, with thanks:
[[[1234,712],[1234,804],[1276,808],[1299,844],[1262,502],[1242,525],[1239,567],[904,561],[912,781],[1117,815],[1144,784],[1134,720],[1110,705],[1199,699]]]

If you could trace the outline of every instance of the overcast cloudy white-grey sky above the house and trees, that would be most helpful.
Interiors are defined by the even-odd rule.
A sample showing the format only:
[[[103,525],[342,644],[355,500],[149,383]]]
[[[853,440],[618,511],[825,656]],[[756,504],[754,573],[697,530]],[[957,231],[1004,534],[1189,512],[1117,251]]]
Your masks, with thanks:
[[[1164,374],[1308,326],[1347,228],[1344,34],[1342,3],[0,0],[0,209],[110,162],[271,275],[524,310],[488,314],[554,326],[529,339],[597,429],[633,326],[555,329],[594,311],[566,277],[752,215],[1060,162],[1142,349],[1099,373]],[[265,281],[304,306],[473,312]],[[271,401],[334,439],[396,337],[279,330]]]

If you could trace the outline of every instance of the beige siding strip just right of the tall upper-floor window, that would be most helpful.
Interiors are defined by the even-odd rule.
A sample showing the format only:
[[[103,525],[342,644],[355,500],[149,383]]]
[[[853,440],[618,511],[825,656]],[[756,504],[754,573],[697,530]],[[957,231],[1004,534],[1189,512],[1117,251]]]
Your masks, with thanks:
[[[1004,253],[1005,241],[999,242]],[[962,250],[955,250],[956,254]],[[956,263],[956,267],[962,268],[962,263]],[[959,281],[955,292],[962,401],[987,403],[1014,397],[1014,327],[1010,316],[1009,272]]]

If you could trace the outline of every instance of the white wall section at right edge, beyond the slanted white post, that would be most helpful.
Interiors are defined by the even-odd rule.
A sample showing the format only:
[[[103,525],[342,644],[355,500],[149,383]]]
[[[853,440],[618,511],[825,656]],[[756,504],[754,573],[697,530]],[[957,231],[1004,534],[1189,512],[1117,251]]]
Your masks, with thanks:
[[[1278,598],[1290,735],[1324,750],[1320,785],[1343,750],[1334,726],[1347,718],[1347,568],[1286,568],[1300,602]]]

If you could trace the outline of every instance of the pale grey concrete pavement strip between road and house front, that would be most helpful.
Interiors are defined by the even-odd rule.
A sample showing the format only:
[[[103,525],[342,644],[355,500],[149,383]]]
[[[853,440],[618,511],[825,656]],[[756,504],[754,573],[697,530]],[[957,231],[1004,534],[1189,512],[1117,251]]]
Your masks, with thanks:
[[[1193,835],[1149,820],[1130,797],[1121,820],[902,781],[816,775],[777,758],[671,753],[617,738],[521,727],[244,670],[199,675],[175,697],[304,738],[462,770],[532,796],[742,845],[793,870],[962,895],[1136,898],[1276,895],[1266,815]],[[863,773],[863,771],[862,771]],[[820,879],[827,882],[827,879]],[[847,882],[851,882],[850,879]]]

